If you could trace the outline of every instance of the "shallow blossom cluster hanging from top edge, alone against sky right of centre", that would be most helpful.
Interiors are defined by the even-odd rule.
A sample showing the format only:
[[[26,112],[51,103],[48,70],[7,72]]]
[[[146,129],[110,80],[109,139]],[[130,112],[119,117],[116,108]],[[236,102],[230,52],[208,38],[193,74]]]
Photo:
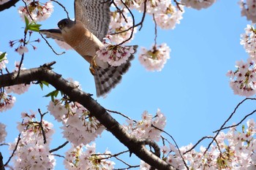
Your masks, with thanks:
[[[194,9],[203,9],[211,7],[216,0],[181,0],[182,4],[185,4],[186,7],[192,7]]]

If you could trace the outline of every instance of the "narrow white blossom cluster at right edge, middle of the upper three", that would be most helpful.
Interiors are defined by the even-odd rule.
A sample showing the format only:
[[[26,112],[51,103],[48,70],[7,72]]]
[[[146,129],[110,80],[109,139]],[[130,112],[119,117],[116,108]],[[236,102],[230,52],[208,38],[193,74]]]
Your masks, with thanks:
[[[247,25],[244,29],[245,33],[241,34],[240,44],[244,45],[246,53],[253,61],[256,61],[256,31],[254,26]]]

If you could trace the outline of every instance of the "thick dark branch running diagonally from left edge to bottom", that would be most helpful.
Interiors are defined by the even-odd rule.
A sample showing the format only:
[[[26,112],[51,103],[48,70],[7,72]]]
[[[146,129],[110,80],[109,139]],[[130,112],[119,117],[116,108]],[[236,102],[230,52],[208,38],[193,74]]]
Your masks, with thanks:
[[[99,122],[107,128],[116,138],[128,147],[131,153],[137,155],[141,160],[156,169],[174,169],[173,166],[162,161],[157,155],[146,149],[145,142],[132,138],[127,134],[127,131],[111,117],[105,108],[97,103],[91,95],[79,90],[75,85],[64,80],[60,74],[56,74],[50,70],[50,66],[44,65],[35,69],[20,70],[20,75],[17,77],[17,72],[10,74],[3,74],[0,76],[0,88],[10,85],[18,85],[22,83],[29,83],[33,81],[45,81],[53,85],[57,90],[69,96],[71,101],[77,101],[86,107],[91,112],[91,115],[97,118]]]

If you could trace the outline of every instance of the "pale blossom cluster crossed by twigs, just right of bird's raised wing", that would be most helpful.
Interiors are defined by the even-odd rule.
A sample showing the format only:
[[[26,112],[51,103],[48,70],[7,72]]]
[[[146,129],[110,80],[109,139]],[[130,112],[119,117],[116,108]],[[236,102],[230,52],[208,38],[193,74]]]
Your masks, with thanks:
[[[137,32],[137,27],[132,31],[132,17],[127,15],[128,10],[123,9],[122,11],[114,11],[110,13],[110,28],[108,34],[110,34],[110,41],[116,44],[126,41],[129,39],[130,42],[134,34]],[[127,43],[126,42],[126,43]]]

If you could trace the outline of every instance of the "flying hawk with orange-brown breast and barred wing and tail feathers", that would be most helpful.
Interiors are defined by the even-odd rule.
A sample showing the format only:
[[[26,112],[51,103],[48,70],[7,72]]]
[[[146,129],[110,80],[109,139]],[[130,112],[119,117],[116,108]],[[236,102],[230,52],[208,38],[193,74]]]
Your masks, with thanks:
[[[59,21],[59,29],[40,30],[48,38],[66,42],[90,63],[98,97],[116,87],[134,58],[131,55],[120,66],[110,66],[97,58],[96,52],[104,46],[102,39],[108,34],[109,24],[110,0],[75,0],[75,21],[65,18]]]

